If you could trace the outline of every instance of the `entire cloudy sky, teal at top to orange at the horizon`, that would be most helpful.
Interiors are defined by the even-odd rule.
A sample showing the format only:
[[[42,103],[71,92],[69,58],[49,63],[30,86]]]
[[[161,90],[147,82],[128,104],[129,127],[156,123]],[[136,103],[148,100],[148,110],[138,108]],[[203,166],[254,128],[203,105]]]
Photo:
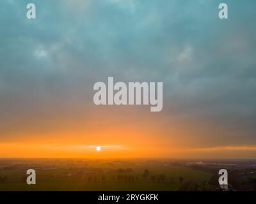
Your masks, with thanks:
[[[223,2],[1,1],[0,157],[255,158],[256,2]],[[163,110],[94,105],[108,77]]]

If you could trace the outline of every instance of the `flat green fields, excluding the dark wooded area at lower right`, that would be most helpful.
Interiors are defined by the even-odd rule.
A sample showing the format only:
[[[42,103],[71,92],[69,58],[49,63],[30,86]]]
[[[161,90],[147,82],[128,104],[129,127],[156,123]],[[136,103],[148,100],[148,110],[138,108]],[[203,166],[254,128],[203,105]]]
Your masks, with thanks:
[[[48,163],[26,164],[31,168],[49,165]],[[129,168],[130,171],[121,173],[116,171],[120,168],[124,170]],[[149,172],[147,177],[143,177],[145,170]],[[0,175],[8,177],[6,182],[0,183],[0,191],[175,191],[181,183],[188,180],[200,183],[209,180],[212,176],[210,173],[186,166],[170,164],[166,166],[164,163],[147,162],[136,164],[131,161],[110,164],[105,161],[54,163],[52,170],[44,170],[44,168],[36,170],[36,185],[31,186],[26,184],[26,170],[1,168]],[[164,175],[164,179],[157,180],[159,175]],[[181,183],[180,177],[182,177]]]

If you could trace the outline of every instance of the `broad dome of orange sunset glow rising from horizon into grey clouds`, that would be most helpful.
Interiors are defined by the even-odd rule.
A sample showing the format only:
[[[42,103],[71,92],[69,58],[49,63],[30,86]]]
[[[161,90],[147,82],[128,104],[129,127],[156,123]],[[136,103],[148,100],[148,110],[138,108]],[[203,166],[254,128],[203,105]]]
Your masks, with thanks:
[[[77,118],[68,125],[58,119],[60,125],[54,128],[41,123],[38,129],[32,129],[33,121],[26,121],[27,125],[19,131],[3,133],[0,157],[200,159],[255,158],[256,155],[253,146],[221,146],[234,135],[206,123],[198,124],[195,119],[163,120],[163,115],[148,112],[127,112],[125,117],[116,112],[109,115],[109,112],[95,112],[90,117],[87,115],[87,120]],[[215,135],[225,136],[216,138]],[[100,151],[96,150],[97,146],[101,147]]]

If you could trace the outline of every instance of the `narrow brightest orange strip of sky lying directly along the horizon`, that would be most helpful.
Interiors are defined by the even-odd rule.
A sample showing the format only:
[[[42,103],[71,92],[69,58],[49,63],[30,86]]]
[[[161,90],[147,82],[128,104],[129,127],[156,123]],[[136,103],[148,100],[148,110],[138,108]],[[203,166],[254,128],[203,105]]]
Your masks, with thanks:
[[[97,150],[96,150],[97,149]],[[170,150],[171,149],[171,150]],[[198,149],[157,149],[127,148],[120,145],[102,145],[100,150],[95,145],[60,145],[60,144],[26,144],[0,143],[0,155],[17,158],[222,158],[223,155],[234,158],[255,158],[255,146],[228,146]],[[95,151],[96,150],[96,151]],[[164,155],[164,156],[163,156]]]

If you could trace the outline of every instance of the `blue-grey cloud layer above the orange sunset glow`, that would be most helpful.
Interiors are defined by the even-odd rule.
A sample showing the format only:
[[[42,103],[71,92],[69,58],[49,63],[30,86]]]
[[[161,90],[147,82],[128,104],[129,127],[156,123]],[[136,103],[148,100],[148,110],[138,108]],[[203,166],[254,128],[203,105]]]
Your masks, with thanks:
[[[113,76],[164,82],[163,120],[207,121],[255,144],[255,1],[226,1],[228,20],[213,0],[33,2],[36,20],[27,1],[0,3],[1,138],[29,127],[28,114],[88,111],[93,84]]]

